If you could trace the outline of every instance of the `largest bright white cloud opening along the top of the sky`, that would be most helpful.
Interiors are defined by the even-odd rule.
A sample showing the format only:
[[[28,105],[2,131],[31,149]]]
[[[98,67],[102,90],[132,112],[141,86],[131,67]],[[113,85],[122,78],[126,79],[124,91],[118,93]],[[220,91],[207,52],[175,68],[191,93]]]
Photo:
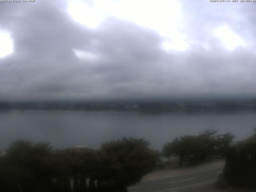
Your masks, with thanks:
[[[72,0],[68,13],[89,28],[97,28],[108,16],[132,21],[157,31],[171,42],[174,50],[186,50],[188,44],[178,31],[182,26],[181,6],[175,0],[92,0],[86,4]]]

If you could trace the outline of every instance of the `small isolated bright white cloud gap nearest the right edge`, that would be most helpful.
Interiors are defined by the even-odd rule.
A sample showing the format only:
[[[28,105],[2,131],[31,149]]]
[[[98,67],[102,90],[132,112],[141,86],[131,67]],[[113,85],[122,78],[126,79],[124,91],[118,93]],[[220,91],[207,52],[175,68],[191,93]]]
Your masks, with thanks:
[[[246,46],[246,42],[240,36],[235,34],[228,26],[221,26],[214,30],[214,34],[227,50],[234,50],[238,46]]]

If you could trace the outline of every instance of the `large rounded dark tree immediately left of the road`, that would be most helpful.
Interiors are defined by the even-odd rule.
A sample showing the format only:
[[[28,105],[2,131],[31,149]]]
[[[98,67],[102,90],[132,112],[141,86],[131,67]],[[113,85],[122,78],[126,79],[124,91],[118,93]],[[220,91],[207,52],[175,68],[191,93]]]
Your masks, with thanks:
[[[124,187],[140,181],[156,167],[156,152],[148,148],[144,139],[124,138],[102,144],[99,152],[98,186],[102,191]]]

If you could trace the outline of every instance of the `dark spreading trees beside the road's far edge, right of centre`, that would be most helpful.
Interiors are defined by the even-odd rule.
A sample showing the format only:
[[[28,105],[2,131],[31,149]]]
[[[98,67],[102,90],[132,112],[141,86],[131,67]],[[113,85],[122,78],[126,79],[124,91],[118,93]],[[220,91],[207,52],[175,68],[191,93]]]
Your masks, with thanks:
[[[180,159],[180,166],[196,164],[209,156],[225,156],[234,136],[230,133],[216,135],[215,130],[206,130],[198,136],[181,136],[164,145],[162,153]]]

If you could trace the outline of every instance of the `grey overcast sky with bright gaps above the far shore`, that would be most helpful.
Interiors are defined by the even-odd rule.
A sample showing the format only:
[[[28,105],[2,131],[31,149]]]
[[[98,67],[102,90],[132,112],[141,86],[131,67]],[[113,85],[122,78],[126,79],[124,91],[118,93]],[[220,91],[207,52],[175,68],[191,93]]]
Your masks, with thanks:
[[[0,99],[256,97],[256,3],[0,2]]]

